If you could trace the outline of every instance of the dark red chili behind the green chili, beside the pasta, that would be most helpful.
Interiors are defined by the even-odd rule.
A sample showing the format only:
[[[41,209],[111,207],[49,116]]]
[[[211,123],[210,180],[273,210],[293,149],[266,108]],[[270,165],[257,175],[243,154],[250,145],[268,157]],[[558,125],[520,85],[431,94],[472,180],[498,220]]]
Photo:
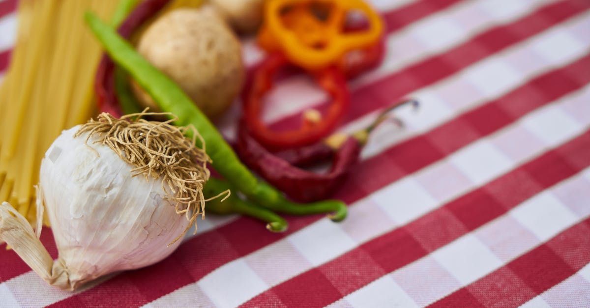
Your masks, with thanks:
[[[170,0],[145,0],[136,6],[135,9],[125,18],[117,28],[117,32],[124,38],[129,38],[143,22],[148,21],[160,11]],[[94,93],[96,103],[101,112],[108,112],[113,116],[123,115],[119,99],[114,86],[115,65],[109,55],[103,54],[94,78]]]

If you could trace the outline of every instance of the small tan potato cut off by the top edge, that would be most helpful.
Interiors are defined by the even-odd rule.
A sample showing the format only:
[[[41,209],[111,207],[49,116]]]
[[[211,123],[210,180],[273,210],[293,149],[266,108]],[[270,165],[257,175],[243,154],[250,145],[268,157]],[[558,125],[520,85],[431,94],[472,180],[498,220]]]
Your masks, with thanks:
[[[264,0],[210,0],[215,9],[241,33],[253,33],[263,19]]]

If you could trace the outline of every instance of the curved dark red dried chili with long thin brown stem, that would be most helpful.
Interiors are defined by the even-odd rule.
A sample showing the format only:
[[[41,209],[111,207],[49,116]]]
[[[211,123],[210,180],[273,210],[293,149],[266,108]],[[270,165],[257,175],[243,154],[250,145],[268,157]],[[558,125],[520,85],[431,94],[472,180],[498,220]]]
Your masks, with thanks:
[[[360,150],[369,133],[386,119],[386,114],[408,103],[417,105],[414,100],[400,101],[381,113],[370,126],[352,135],[337,133],[324,142],[276,154],[258,143],[242,120],[235,147],[242,162],[290,198],[300,202],[324,199],[342,184],[350,166],[358,161]],[[314,173],[299,168],[329,158],[333,161],[327,173]]]

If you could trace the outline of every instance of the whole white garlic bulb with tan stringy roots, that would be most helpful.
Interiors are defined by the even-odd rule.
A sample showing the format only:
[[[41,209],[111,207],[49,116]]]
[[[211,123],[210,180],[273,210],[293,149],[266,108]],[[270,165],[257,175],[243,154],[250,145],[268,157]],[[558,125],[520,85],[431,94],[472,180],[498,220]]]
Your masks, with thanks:
[[[0,209],[0,237],[61,289],[162,260],[203,213],[205,153],[176,127],[128,119],[101,114],[64,130],[45,153],[38,208],[59,251],[53,265],[24,218],[12,217],[6,202]]]

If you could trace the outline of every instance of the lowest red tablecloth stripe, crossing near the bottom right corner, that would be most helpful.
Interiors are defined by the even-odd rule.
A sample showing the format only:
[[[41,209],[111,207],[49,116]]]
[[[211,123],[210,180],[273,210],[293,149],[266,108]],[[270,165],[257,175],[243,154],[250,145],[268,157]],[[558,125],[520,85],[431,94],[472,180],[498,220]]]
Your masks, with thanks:
[[[590,263],[588,247],[590,218],[430,307],[520,306]]]

